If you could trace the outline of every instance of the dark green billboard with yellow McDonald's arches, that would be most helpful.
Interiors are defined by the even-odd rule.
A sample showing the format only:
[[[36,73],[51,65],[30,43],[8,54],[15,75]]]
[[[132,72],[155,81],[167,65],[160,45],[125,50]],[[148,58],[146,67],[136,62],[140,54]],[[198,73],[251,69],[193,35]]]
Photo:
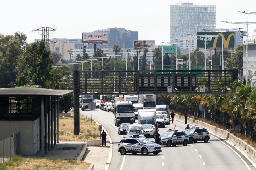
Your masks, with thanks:
[[[219,35],[219,37],[200,37],[197,40],[197,48],[221,48],[221,32],[197,32],[197,35]],[[235,47],[235,33],[234,32],[223,32],[223,48],[234,48]]]

